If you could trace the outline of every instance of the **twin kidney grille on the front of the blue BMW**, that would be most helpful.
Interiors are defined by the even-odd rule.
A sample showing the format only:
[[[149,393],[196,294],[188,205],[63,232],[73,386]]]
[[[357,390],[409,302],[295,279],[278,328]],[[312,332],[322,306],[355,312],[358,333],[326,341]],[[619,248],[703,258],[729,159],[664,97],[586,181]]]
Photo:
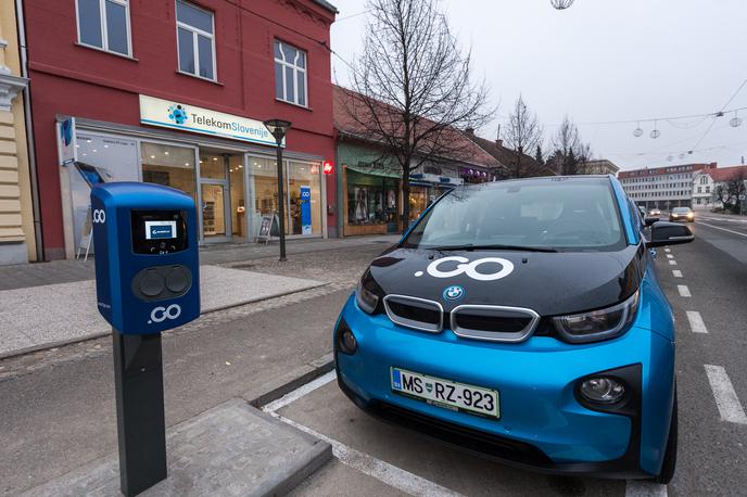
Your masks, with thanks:
[[[444,318],[457,335],[492,342],[521,342],[536,328],[540,316],[521,307],[461,305],[446,313],[435,301],[408,295],[387,295],[384,309],[392,322],[420,331],[439,333]]]

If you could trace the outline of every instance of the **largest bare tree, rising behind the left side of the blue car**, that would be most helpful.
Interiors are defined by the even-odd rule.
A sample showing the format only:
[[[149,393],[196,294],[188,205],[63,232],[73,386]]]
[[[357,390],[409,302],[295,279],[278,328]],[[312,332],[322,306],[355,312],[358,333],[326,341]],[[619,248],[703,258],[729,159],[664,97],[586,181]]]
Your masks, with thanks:
[[[477,129],[493,115],[488,88],[471,80],[471,52],[463,54],[436,0],[369,0],[365,49],[352,69],[343,103],[362,138],[379,144],[402,168],[404,228],[409,219],[409,175],[425,163],[464,155]]]

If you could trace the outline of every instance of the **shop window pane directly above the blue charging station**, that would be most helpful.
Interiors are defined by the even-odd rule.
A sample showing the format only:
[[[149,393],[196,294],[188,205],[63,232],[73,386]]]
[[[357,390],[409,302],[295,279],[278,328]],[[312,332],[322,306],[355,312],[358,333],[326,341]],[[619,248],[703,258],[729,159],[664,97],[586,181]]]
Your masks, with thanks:
[[[176,188],[197,200],[194,149],[141,142],[142,180]]]

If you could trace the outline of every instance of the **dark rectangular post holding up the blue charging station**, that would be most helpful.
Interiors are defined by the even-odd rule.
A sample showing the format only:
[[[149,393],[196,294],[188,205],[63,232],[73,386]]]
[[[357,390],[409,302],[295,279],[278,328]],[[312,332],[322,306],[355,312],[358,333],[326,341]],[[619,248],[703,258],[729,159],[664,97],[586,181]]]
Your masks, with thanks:
[[[112,329],[119,442],[119,487],[135,496],[167,476],[161,333]]]

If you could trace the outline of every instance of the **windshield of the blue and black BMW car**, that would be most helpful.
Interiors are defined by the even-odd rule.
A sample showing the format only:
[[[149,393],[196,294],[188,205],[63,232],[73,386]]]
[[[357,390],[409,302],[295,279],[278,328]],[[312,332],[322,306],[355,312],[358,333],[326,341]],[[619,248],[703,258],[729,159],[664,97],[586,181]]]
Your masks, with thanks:
[[[418,248],[619,250],[607,179],[542,179],[463,187],[444,195],[403,241]]]

